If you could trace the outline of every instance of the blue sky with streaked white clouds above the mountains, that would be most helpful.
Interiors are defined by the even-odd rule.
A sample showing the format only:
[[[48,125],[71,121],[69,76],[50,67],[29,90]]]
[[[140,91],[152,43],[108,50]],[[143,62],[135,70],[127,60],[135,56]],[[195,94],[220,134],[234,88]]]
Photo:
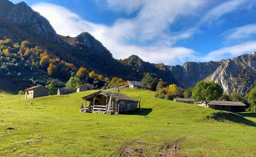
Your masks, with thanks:
[[[116,59],[182,65],[256,51],[256,0],[23,1],[58,34],[87,31]]]

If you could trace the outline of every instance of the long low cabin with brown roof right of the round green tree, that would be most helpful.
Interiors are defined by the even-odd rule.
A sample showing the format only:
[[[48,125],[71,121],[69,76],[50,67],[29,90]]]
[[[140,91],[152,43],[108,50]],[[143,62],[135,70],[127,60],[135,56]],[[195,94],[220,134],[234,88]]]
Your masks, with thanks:
[[[244,112],[246,108],[246,105],[242,102],[211,101],[208,103],[208,106],[203,102],[197,102],[196,104],[199,106],[230,112]]]

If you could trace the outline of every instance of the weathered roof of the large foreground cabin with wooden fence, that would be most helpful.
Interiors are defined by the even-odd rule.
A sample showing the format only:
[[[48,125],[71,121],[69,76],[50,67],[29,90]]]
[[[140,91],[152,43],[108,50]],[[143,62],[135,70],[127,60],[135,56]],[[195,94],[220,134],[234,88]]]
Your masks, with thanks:
[[[91,98],[91,97],[95,97],[95,96],[97,96],[97,95],[99,95],[101,93],[103,93],[103,94],[105,94],[105,95],[107,95],[109,97],[112,97],[112,98],[114,98],[116,100],[125,100],[125,101],[130,101],[130,102],[138,102],[137,100],[134,100],[133,98],[128,97],[126,95],[123,95],[121,93],[110,92],[110,91],[98,91],[98,92],[92,93],[90,95],[87,95],[85,97],[82,97],[82,99],[88,99],[88,98]]]

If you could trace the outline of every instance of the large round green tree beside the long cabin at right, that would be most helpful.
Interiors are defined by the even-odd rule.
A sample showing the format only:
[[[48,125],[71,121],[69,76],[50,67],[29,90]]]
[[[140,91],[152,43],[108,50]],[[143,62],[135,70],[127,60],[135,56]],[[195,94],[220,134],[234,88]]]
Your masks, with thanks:
[[[197,82],[192,90],[192,98],[197,101],[202,101],[206,106],[213,100],[218,100],[223,94],[223,89],[215,82]]]

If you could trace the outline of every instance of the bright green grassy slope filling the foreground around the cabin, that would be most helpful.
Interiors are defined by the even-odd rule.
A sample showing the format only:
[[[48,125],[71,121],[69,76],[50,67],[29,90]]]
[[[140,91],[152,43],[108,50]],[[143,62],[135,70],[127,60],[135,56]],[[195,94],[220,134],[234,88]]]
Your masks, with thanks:
[[[181,137],[185,137],[181,153],[189,157],[256,156],[255,127],[206,119],[217,112],[210,108],[160,100],[151,91],[122,89],[140,97],[142,107],[152,112],[146,116],[80,113],[81,97],[92,92],[34,100],[0,94],[0,156],[119,156],[125,142],[140,142],[134,147],[144,156],[158,156],[166,142]]]

